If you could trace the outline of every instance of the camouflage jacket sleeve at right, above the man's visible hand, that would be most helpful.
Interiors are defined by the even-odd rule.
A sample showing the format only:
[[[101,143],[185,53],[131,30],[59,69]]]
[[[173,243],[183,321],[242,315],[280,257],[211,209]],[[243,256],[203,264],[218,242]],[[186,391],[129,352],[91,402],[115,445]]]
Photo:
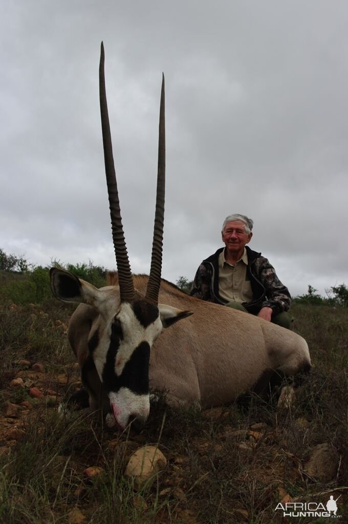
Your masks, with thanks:
[[[266,290],[266,299],[262,307],[272,308],[275,314],[288,311],[291,304],[289,290],[276,275],[274,267],[267,258],[260,257],[258,278]]]

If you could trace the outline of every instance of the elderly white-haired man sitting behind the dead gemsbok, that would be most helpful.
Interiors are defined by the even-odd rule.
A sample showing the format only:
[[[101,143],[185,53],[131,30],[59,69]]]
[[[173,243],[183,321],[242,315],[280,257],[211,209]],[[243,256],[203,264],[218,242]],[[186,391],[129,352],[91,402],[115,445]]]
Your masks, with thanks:
[[[226,217],[221,232],[225,247],[202,261],[190,294],[290,329],[290,293],[267,258],[246,246],[252,228],[253,221],[245,215]]]

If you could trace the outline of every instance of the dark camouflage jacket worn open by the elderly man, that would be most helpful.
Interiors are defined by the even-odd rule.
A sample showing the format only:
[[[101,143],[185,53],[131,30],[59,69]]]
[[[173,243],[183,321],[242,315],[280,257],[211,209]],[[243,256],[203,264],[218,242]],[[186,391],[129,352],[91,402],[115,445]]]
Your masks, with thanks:
[[[209,302],[223,304],[219,296],[219,255],[224,248],[206,258],[195,274],[190,295]],[[275,269],[261,253],[246,246],[248,267],[246,278],[250,280],[254,300],[242,305],[249,313],[257,314],[261,308],[273,309],[277,315],[288,311],[291,297],[289,290],[276,275]]]

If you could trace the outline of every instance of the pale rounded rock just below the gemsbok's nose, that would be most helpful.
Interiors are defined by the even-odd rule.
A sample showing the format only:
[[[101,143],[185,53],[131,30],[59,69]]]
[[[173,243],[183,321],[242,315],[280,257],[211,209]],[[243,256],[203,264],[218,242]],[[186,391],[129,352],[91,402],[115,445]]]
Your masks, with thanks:
[[[133,478],[136,490],[150,487],[161,470],[167,465],[167,459],[156,446],[143,446],[135,451],[128,461],[125,476]]]

